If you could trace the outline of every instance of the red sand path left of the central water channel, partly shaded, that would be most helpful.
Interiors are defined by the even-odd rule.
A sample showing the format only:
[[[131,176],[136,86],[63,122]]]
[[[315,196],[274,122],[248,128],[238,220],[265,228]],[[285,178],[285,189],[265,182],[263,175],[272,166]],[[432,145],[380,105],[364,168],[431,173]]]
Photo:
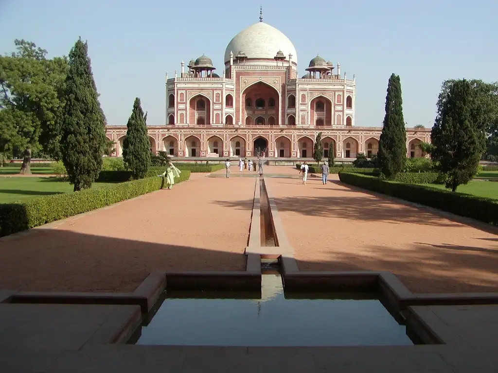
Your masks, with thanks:
[[[192,174],[172,190],[0,240],[0,288],[128,292],[154,270],[244,271],[254,185]]]

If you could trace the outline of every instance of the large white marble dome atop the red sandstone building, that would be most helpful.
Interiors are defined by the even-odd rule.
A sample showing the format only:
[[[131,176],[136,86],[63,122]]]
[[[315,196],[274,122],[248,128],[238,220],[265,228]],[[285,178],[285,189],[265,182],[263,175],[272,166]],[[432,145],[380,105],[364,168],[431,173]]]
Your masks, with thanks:
[[[230,61],[230,52],[236,56],[239,51],[244,51],[248,59],[273,59],[278,51],[282,51],[286,61],[291,53],[292,62],[297,64],[296,48],[289,38],[264,22],[254,23],[234,36],[225,51],[225,62]]]

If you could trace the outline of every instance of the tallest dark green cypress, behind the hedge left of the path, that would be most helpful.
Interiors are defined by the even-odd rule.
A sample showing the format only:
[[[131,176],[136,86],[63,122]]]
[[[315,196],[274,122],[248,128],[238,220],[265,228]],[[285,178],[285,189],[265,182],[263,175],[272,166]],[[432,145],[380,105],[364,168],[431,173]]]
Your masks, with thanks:
[[[74,191],[89,188],[102,170],[106,147],[104,115],[88,57],[88,44],[78,39],[69,53],[64,90],[61,153]]]

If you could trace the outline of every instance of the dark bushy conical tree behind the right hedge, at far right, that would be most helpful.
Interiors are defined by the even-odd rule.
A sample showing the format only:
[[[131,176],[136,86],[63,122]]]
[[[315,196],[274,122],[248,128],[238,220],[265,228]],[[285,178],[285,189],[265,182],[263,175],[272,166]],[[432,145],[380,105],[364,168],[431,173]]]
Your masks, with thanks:
[[[485,122],[475,121],[481,112],[471,82],[453,81],[438,98],[438,114],[431,131],[432,159],[446,175],[446,187],[453,191],[476,175],[486,150]]]

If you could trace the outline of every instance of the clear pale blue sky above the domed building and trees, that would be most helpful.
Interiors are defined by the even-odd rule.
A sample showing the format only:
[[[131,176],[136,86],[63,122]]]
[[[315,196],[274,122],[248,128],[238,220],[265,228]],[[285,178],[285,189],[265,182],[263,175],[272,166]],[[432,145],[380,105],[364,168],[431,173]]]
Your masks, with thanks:
[[[81,36],[109,124],[126,124],[142,100],[148,124],[164,124],[164,75],[205,53],[221,75],[225,48],[258,21],[259,2],[0,0],[0,52],[26,39],[49,56]],[[356,74],[356,125],[380,126],[391,73],[401,78],[409,126],[431,127],[441,83],[498,81],[496,0],[262,0],[263,20],[294,43],[299,74],[317,53]]]

